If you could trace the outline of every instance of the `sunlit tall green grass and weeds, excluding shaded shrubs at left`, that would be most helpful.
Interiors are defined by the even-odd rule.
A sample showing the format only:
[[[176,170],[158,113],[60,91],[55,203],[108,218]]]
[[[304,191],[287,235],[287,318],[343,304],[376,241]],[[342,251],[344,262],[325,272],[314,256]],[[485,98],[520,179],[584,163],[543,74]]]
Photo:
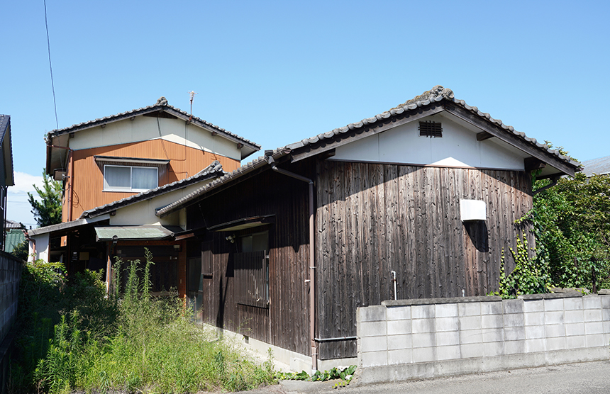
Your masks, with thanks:
[[[116,306],[112,325],[85,319],[83,308],[62,315],[33,373],[38,390],[195,393],[247,390],[275,379],[270,361],[257,365],[231,343],[192,324],[177,295],[151,296],[148,251],[146,257],[143,275],[139,261],[131,261],[124,293],[116,288],[104,299],[106,308]],[[121,263],[116,261],[115,272]]]

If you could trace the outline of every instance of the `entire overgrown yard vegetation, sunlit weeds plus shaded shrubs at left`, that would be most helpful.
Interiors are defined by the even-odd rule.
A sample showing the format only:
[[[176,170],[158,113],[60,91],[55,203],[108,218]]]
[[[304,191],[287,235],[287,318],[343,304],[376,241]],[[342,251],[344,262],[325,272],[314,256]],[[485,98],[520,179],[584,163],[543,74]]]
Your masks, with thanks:
[[[146,256],[144,272],[131,261],[124,293],[117,287],[109,297],[100,273],[85,271],[66,281],[60,264],[26,266],[13,392],[196,393],[275,380],[271,360],[257,365],[192,324],[177,295],[150,295],[153,262],[148,250]],[[120,283],[120,266],[117,260],[114,283]]]

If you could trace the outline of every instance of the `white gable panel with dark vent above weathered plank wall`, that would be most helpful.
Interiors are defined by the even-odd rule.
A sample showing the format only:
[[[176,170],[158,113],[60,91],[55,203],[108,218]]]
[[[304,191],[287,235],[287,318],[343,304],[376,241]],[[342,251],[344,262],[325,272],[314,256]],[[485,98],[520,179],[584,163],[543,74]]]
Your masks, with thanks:
[[[420,137],[420,121],[443,125],[443,137]],[[523,170],[525,153],[490,138],[477,141],[481,130],[440,114],[400,125],[336,148],[331,160]]]

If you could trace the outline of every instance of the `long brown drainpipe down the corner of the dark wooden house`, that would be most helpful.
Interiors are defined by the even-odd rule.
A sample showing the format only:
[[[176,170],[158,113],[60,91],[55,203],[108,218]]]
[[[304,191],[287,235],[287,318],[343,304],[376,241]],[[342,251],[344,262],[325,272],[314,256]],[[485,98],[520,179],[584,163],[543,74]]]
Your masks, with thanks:
[[[277,168],[275,160],[271,156],[273,151],[265,151],[265,157],[267,157],[267,163],[270,164],[273,171],[279,172],[290,176],[291,178],[298,179],[299,181],[306,182],[309,184],[309,339],[311,341],[311,370],[312,372],[318,371],[318,348],[316,347],[316,259],[314,253],[314,181],[294,174],[294,172],[287,171],[285,169]]]

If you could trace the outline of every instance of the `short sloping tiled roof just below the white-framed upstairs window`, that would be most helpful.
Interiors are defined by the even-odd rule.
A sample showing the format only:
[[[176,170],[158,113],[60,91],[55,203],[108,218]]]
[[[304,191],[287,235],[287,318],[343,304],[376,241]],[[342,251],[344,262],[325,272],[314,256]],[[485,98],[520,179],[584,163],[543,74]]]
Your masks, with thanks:
[[[214,161],[208,167],[202,169],[193,176],[189,176],[188,178],[184,178],[179,181],[172,182],[171,184],[166,184],[157,188],[143,191],[142,193],[138,193],[133,196],[121,198],[121,200],[113,201],[112,203],[108,203],[103,206],[85,210],[80,215],[79,219],[95,218],[96,216],[104,215],[104,213],[110,213],[118,208],[131,206],[131,204],[138,203],[139,201],[150,200],[150,198],[161,196],[162,194],[170,193],[170,191],[185,188],[189,185],[196,184],[201,181],[206,181],[208,179],[212,179],[218,176],[222,176],[224,174],[227,174],[227,172],[223,170],[222,164],[220,164],[220,162],[218,161]]]

